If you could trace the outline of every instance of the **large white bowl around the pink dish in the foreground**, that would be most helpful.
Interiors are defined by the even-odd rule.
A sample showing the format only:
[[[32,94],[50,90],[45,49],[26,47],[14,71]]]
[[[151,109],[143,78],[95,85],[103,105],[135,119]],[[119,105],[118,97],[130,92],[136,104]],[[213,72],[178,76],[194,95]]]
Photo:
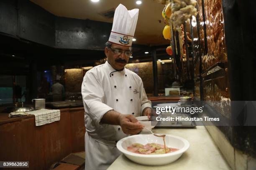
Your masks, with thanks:
[[[142,145],[146,145],[147,143],[158,143],[164,145],[163,138],[159,138],[151,134],[128,136],[119,140],[116,146],[120,152],[122,152],[128,159],[132,160],[133,162],[153,166],[172,163],[189,148],[189,142],[178,136],[166,135],[165,141],[166,147],[177,148],[179,150],[173,153],[165,153],[159,155],[143,155],[132,153],[127,150],[127,147],[131,146],[133,143],[141,143]]]

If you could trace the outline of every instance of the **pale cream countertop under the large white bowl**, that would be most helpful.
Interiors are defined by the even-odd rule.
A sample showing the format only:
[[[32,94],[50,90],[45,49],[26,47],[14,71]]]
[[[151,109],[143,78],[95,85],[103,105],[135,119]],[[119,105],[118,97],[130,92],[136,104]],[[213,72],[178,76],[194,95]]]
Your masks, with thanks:
[[[153,129],[153,132],[185,138],[190,147],[177,161],[161,166],[140,165],[121,154],[108,170],[230,170],[204,126],[193,129]]]

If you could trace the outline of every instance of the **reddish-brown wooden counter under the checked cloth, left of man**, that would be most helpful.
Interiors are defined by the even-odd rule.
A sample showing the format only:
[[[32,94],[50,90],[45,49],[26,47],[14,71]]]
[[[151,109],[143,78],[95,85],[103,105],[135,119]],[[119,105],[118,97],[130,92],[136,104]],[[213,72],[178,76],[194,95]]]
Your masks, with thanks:
[[[32,170],[48,170],[70,153],[84,151],[84,133],[84,107],[60,109],[59,121],[41,126],[34,115],[0,113],[0,160],[26,160]]]

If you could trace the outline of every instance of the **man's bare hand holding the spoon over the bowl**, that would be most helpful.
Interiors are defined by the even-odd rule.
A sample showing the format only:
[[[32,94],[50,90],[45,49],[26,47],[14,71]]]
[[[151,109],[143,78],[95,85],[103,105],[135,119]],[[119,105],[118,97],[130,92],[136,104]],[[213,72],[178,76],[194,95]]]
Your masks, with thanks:
[[[119,125],[121,126],[123,133],[128,135],[138,134],[143,127],[133,115],[120,115]]]

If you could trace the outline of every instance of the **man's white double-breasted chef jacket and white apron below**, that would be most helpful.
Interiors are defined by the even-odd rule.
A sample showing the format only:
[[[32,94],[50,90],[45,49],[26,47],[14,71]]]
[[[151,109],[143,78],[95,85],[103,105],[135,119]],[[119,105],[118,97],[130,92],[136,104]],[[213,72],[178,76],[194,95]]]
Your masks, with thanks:
[[[85,169],[105,170],[120,155],[117,141],[128,135],[118,125],[100,123],[101,118],[109,110],[138,117],[146,107],[151,107],[151,101],[136,73],[127,68],[117,71],[108,61],[86,72],[82,97],[86,127]]]

